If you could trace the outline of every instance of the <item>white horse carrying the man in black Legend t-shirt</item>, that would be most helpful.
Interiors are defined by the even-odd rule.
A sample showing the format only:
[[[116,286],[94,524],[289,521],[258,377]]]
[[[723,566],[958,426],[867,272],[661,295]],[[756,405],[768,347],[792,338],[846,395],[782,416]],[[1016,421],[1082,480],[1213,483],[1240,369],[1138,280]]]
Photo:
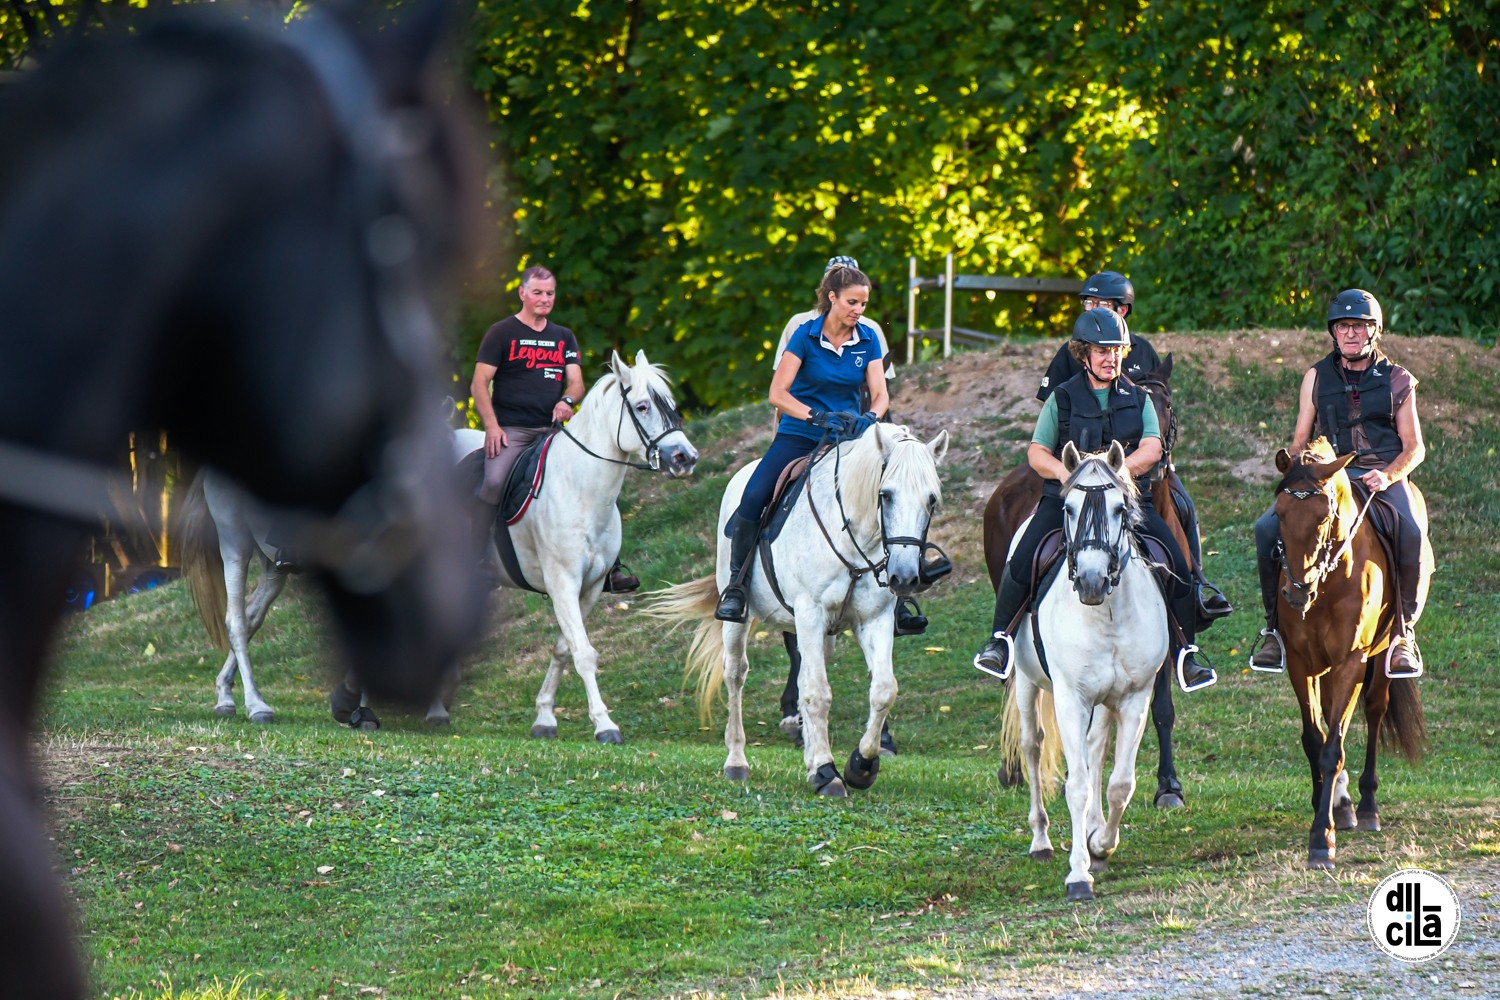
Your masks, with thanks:
[[[454,439],[456,450],[465,454],[483,445],[483,433],[477,430],[458,430]],[[645,351],[636,354],[633,366],[614,354],[609,373],[594,382],[578,414],[552,441],[540,492],[525,516],[508,528],[520,574],[552,598],[552,613],[562,633],[537,693],[532,736],[550,739],[558,735],[552,709],[572,657],[588,693],[594,739],[622,742],[598,693],[598,652],[584,630],[584,619],[598,601],[604,577],[620,556],[616,501],[626,469],[660,471],[681,478],[692,475],[696,465],[698,450],[682,433],[662,367],[646,361]],[[495,531],[507,528],[496,522]],[[502,585],[524,586],[512,580],[508,571],[501,571],[500,577]]]

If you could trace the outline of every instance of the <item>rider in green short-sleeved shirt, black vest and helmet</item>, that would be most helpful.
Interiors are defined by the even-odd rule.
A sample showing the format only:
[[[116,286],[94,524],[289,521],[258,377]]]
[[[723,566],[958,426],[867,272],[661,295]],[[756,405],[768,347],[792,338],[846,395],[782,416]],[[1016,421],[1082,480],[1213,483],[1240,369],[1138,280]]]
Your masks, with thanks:
[[[1071,441],[1080,451],[1090,453],[1119,441],[1125,448],[1125,468],[1137,480],[1150,474],[1161,460],[1156,408],[1150,405],[1144,390],[1122,378],[1130,342],[1130,328],[1113,309],[1089,309],[1072,325],[1068,349],[1078,363],[1078,375],[1056,387],[1047,397],[1026,451],[1026,460],[1044,480],[1042,496],[1000,574],[993,633],[974,658],[974,666],[986,673],[1000,679],[1011,675],[1016,663],[1014,637],[1006,630],[1030,597],[1030,568],[1036,547],[1048,532],[1062,528],[1062,481],[1068,478],[1059,457],[1062,447]],[[1170,610],[1184,637],[1179,648],[1182,690],[1206,688],[1218,676],[1212,667],[1194,658],[1197,615],[1188,559],[1178,547],[1167,522],[1150,504],[1142,504],[1140,513],[1137,531],[1156,538],[1172,559],[1174,585]]]

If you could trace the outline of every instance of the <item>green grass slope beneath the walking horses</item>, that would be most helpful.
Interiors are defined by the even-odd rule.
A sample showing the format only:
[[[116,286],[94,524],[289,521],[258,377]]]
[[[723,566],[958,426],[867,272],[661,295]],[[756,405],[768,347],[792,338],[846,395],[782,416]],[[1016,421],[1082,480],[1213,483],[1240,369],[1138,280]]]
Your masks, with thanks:
[[[928,367],[904,378],[944,384],[940,366]],[[720,777],[723,712],[700,727],[682,691],[687,636],[663,636],[634,610],[591,616],[600,684],[628,741],[598,747],[576,679],[561,690],[560,739],[525,738],[554,639],[542,598],[513,601],[516,619],[471,658],[450,730],[387,712],[386,729],[358,733],[327,717],[332,655],[300,582],[254,646],[278,709],[272,727],[210,715],[222,657],[172,585],[69,624],[44,720],[48,801],[96,991],[868,993],[1270,925],[1359,901],[1412,862],[1464,888],[1464,865],[1500,852],[1500,768],[1488,750],[1500,727],[1494,400],[1468,381],[1444,382],[1476,418],[1434,442],[1418,477],[1438,525],[1422,630],[1431,753],[1418,766],[1382,759],[1384,832],[1342,835],[1328,877],[1302,870],[1308,781],[1292,691],[1239,667],[1258,628],[1250,522],[1269,486],[1232,469],[1290,426],[1300,367],[1222,372],[1179,358],[1178,372],[1179,466],[1216,553],[1210,576],[1244,610],[1203,636],[1220,685],[1178,696],[1190,807],[1150,808],[1148,732],[1142,787],[1096,906],[1062,901],[1062,859],[1028,861],[1024,792],[994,778],[1000,699],[968,666],[993,597],[976,546],[950,546],[958,571],[924,601],[932,631],[897,643],[903,753],[849,802],[813,798],[800,753],[776,729],[776,634],[752,643],[753,772],[738,786]],[[704,462],[693,481],[627,480],[624,555],[646,586],[708,571],[718,492],[768,426],[764,406],[694,421]],[[1011,459],[970,448],[946,469],[956,532],[976,537],[975,492]],[[830,673],[844,754],[866,703],[852,643],[840,643]],[[1362,727],[1354,733],[1359,754]],[[1056,798],[1048,808],[1060,849],[1066,807]]]

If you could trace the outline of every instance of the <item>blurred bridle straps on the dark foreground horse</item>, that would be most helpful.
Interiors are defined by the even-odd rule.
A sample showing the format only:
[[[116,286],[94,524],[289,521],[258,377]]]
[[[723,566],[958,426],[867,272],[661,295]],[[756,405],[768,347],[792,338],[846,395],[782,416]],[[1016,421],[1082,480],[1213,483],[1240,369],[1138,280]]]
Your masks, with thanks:
[[[318,12],[292,30],[266,28],[274,43],[296,52],[327,100],[352,166],[354,201],[363,220],[360,247],[374,274],[376,327],[398,364],[412,381],[430,363],[436,322],[420,292],[417,225],[402,211],[393,175],[414,159],[414,112],[380,105],[380,87],[354,39]],[[333,516],[278,508],[298,538],[298,558],[332,571],[356,594],[384,589],[422,550],[416,526],[418,492],[410,454],[420,448],[416,433],[392,439],[376,477],[357,489]],[[92,523],[110,511],[144,520],[116,496],[128,495],[124,477],[111,466],[0,441],[0,501]]]

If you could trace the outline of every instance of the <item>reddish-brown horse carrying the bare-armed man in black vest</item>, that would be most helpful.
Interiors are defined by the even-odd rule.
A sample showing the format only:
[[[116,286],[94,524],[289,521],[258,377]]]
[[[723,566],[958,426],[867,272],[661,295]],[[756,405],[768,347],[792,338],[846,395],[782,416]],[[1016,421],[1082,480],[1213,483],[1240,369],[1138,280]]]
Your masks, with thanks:
[[[1382,736],[1407,760],[1419,760],[1426,723],[1416,684],[1390,679],[1380,657],[1398,613],[1392,562],[1365,516],[1344,466],[1318,438],[1300,456],[1276,453],[1276,517],[1281,520],[1282,586],[1276,597],[1287,678],[1302,711],[1302,751],[1312,768],[1312,829],[1308,868],[1334,867],[1334,831],[1380,829],[1376,807],[1376,745]],[[1412,513],[1426,526],[1414,484]],[[1424,567],[1426,568],[1426,567]],[[1352,808],[1344,736],[1365,699],[1365,769],[1359,807]]]

